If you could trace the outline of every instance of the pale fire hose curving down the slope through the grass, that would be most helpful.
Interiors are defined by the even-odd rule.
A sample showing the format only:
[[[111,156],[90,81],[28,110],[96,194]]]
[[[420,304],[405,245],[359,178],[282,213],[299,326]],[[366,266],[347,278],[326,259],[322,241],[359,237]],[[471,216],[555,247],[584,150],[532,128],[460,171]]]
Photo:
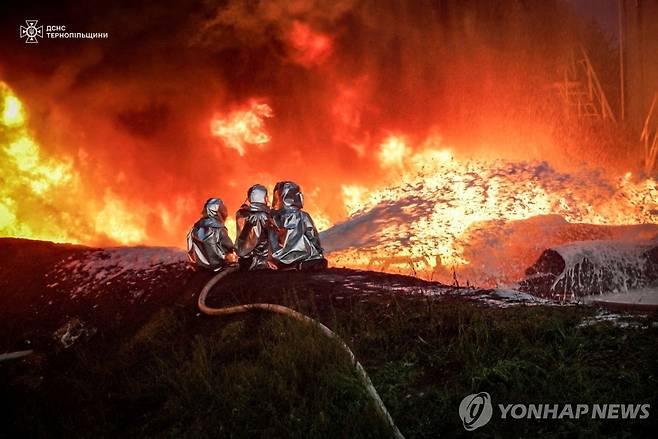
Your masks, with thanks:
[[[217,284],[217,282],[219,282],[223,277],[225,277],[229,273],[233,273],[237,270],[238,267],[227,268],[226,270],[223,270],[218,274],[216,274],[212,279],[208,281],[208,283],[206,283],[206,285],[201,290],[201,293],[199,294],[198,304],[201,312],[212,316],[218,316],[218,315],[226,316],[231,314],[240,314],[249,311],[260,310],[260,311],[268,311],[276,314],[283,314],[295,320],[298,320],[302,323],[313,326],[325,336],[336,341],[343,349],[343,351],[347,353],[347,355],[350,358],[350,362],[354,366],[357,376],[361,381],[361,384],[363,384],[363,386],[366,388],[366,392],[368,393],[368,396],[372,400],[375,409],[377,410],[377,413],[385,421],[386,425],[390,427],[391,432],[395,438],[404,439],[404,436],[402,435],[402,433],[400,433],[400,430],[397,428],[395,422],[393,421],[393,418],[391,417],[390,413],[386,409],[384,402],[379,397],[379,394],[377,393],[375,386],[373,386],[372,381],[370,381],[370,377],[368,377],[368,374],[366,373],[365,369],[363,368],[363,366],[361,366],[361,363],[357,361],[356,357],[354,356],[354,353],[347,346],[347,344],[331,329],[327,328],[322,323],[318,322],[315,319],[312,319],[307,315],[304,315],[298,311],[295,311],[292,308],[288,308],[282,305],[275,305],[271,303],[248,303],[245,305],[227,306],[224,308],[211,308],[206,305],[206,298],[208,297],[208,293]]]

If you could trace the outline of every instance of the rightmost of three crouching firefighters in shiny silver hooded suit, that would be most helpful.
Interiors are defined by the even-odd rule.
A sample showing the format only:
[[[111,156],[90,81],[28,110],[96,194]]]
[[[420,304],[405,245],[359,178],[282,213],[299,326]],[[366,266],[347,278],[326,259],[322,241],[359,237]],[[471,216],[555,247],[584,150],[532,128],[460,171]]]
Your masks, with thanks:
[[[311,216],[304,212],[299,185],[281,181],[274,187],[270,246],[279,269],[322,270],[327,268],[320,236]]]

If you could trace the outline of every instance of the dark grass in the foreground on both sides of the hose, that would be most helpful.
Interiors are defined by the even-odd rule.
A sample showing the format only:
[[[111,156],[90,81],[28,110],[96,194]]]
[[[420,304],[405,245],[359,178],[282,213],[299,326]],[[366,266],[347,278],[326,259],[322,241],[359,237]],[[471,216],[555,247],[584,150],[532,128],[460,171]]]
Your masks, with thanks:
[[[651,437],[647,420],[501,420],[466,432],[461,399],[494,404],[658,402],[658,329],[580,327],[581,307],[493,309],[397,297],[316,306],[353,348],[400,430],[415,437]],[[235,299],[239,301],[239,298]],[[321,309],[321,310],[319,310]],[[2,366],[3,425],[65,437],[386,437],[346,356],[308,326],[251,314],[197,317],[171,307],[137,332],[97,334],[32,363]],[[8,368],[11,368],[9,370]],[[1,370],[0,370],[1,371]],[[38,376],[44,376],[39,380]]]

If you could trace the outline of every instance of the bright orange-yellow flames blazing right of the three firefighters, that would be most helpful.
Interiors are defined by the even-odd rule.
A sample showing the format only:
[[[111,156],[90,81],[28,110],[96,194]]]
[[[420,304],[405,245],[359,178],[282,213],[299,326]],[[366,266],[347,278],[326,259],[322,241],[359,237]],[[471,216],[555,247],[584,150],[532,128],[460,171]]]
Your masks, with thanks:
[[[488,229],[500,230],[514,221],[559,215],[569,223],[593,225],[658,223],[658,184],[653,179],[635,180],[630,172],[606,178],[587,169],[567,174],[546,162],[460,161],[438,145],[440,140],[428,139],[417,152],[406,153],[412,148],[402,138],[390,137],[379,156],[382,167],[399,169],[390,185],[343,187],[350,220],[328,233],[337,249],[331,253],[335,264],[389,271],[400,271],[402,265],[407,272],[412,265],[417,273],[445,280],[446,273],[463,271],[473,262],[469,253],[491,250],[481,241],[479,249],[469,249],[483,230],[493,234]],[[546,233],[539,223],[535,229],[526,232],[526,239]],[[515,274],[547,242],[540,237],[532,254],[522,255],[527,265],[516,267]]]

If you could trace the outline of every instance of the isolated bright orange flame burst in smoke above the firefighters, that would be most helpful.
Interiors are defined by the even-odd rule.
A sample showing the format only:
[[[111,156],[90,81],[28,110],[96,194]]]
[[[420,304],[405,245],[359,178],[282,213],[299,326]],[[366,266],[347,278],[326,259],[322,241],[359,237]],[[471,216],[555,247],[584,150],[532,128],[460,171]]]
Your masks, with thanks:
[[[213,120],[210,129],[214,136],[222,139],[224,145],[243,156],[246,145],[262,147],[270,141],[270,136],[265,132],[265,119],[273,116],[269,105],[254,101],[246,110],[236,110]]]

